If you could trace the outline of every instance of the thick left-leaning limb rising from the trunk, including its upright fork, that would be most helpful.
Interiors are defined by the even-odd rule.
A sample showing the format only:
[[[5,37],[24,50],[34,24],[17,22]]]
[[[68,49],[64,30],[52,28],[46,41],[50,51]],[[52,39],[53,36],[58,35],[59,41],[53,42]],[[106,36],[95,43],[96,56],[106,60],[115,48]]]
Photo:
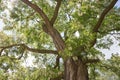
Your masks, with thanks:
[[[58,0],[58,3],[56,5],[56,11],[54,12],[53,18],[51,19],[51,22],[49,21],[49,18],[47,17],[47,15],[43,12],[43,10],[38,7],[37,5],[31,3],[29,0],[22,0],[25,4],[27,4],[28,6],[30,6],[31,8],[33,8],[36,12],[39,13],[39,15],[43,18],[43,20],[45,21],[45,26],[44,27],[44,31],[46,33],[48,33],[52,39],[53,42],[57,48],[58,51],[62,51],[65,48],[65,43],[60,35],[60,33],[53,27],[53,25],[51,24],[55,22],[56,18],[57,18],[57,14],[58,14],[58,10],[61,4],[61,0]]]

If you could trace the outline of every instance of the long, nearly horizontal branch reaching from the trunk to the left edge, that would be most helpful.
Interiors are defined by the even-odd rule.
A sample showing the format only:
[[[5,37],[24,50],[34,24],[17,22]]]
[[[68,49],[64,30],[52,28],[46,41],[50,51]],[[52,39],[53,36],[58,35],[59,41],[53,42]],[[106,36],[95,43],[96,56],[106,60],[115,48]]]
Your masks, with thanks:
[[[20,46],[20,47],[24,47],[24,49],[31,51],[31,52],[36,52],[36,53],[49,53],[49,54],[58,54],[57,51],[54,50],[42,50],[42,49],[34,49],[34,48],[30,48],[25,44],[13,44],[13,45],[9,45],[9,46],[0,46],[1,48],[1,53],[3,50],[8,49],[8,48],[12,48],[15,46]]]

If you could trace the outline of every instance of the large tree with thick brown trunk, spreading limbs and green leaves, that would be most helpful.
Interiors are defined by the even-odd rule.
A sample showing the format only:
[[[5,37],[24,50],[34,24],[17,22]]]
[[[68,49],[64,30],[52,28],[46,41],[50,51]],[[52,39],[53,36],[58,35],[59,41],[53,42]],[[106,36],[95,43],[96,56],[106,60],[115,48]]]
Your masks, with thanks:
[[[7,45],[1,43],[2,60],[8,61],[1,65],[4,68],[7,66],[6,71],[10,67],[11,70],[21,70],[22,73],[18,73],[21,77],[18,79],[29,80],[32,79],[31,76],[35,80],[92,79],[94,67],[104,65],[101,63],[104,60],[103,54],[98,49],[106,49],[113,44],[111,37],[106,35],[116,36],[120,31],[120,9],[114,7],[117,1],[20,0],[15,1],[13,8],[1,1],[2,8],[7,7],[11,12],[9,17],[2,14],[6,24],[4,30],[12,30],[14,33]],[[105,42],[104,37],[107,40]],[[119,39],[119,36],[115,39]],[[35,56],[37,65],[43,61],[45,70],[41,65],[40,69],[22,69],[19,59],[26,59],[30,52],[43,54],[32,55]],[[52,56],[56,58],[55,66],[54,63],[49,63],[48,57]],[[14,64],[18,64],[16,66],[20,68],[15,69]],[[33,74],[30,75],[29,72]]]

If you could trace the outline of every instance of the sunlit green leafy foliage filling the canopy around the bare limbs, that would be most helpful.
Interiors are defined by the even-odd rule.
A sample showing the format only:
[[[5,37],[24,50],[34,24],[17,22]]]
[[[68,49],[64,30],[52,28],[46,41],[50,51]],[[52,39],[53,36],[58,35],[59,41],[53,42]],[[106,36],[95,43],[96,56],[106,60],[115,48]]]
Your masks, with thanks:
[[[50,21],[59,0],[29,1],[40,7]],[[87,64],[91,80],[119,80],[120,56],[113,54],[111,59],[106,60],[99,49],[109,49],[114,41],[120,39],[120,8],[111,9],[98,31],[93,31],[102,11],[111,1],[62,0],[53,27],[62,36],[66,47],[63,51],[58,51],[61,58],[58,68],[54,68],[57,55],[39,52],[57,50],[53,37],[43,30],[43,18],[22,0],[0,0],[0,17],[5,24],[0,32],[0,80],[55,78],[63,73],[63,62],[71,56],[79,56],[82,60],[100,59],[99,63]],[[114,37],[114,40],[108,36]],[[34,57],[33,60],[28,59],[31,56]],[[32,61],[33,65],[23,65],[27,60]]]

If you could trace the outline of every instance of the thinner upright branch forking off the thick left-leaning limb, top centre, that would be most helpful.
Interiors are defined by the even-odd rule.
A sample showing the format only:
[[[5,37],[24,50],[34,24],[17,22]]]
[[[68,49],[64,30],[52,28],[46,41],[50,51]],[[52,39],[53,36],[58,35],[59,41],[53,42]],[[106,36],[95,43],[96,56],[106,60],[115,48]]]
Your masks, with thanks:
[[[61,2],[62,2],[62,0],[57,0],[57,5],[56,5],[55,10],[54,10],[54,15],[53,15],[53,17],[51,18],[51,21],[50,21],[51,25],[53,25],[55,20],[57,19],[58,11],[59,11]]]

